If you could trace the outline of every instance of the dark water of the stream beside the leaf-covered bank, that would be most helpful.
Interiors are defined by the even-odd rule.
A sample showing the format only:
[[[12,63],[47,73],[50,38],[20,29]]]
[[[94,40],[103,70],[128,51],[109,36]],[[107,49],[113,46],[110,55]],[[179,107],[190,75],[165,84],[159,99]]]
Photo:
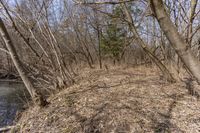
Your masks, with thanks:
[[[0,82],[0,127],[12,124],[28,98],[23,84]]]

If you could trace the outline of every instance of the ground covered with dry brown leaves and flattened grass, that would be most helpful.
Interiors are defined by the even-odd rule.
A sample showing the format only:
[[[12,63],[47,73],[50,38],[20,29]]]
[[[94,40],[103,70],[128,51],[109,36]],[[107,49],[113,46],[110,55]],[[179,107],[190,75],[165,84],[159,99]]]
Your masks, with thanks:
[[[23,133],[199,133],[198,86],[167,83],[153,68],[85,70],[77,83],[30,107]],[[196,87],[197,91],[192,90]]]

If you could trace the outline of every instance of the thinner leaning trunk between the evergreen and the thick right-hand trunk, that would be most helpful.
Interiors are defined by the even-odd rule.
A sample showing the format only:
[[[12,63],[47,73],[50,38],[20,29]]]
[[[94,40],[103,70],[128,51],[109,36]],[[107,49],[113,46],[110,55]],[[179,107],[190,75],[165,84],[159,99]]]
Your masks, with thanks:
[[[147,44],[142,40],[142,38],[139,36],[136,27],[133,22],[133,18],[128,11],[128,8],[125,3],[122,3],[122,8],[125,11],[125,15],[127,18],[127,21],[129,23],[129,27],[131,29],[131,32],[133,33],[135,40],[137,43],[142,47],[142,49],[145,51],[145,53],[152,59],[152,61],[159,67],[159,69],[162,71],[164,78],[169,82],[175,82],[175,79],[169,72],[169,70],[163,65],[163,63],[151,52],[151,50],[147,47]]]

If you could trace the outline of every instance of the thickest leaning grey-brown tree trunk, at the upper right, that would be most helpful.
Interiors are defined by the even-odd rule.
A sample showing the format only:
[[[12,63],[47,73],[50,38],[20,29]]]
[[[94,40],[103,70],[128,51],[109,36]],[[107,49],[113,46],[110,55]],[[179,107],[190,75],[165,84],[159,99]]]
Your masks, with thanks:
[[[188,44],[184,41],[184,38],[178,33],[175,25],[170,20],[166,13],[163,1],[150,0],[150,6],[161,29],[170,41],[170,44],[187,69],[193,74],[200,84],[200,62],[194,57],[192,51],[188,48]]]

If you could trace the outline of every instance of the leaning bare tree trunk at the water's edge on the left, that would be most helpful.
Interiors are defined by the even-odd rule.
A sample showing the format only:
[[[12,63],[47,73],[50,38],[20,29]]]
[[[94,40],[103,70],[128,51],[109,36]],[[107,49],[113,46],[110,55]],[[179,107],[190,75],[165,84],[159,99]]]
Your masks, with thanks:
[[[10,53],[11,59],[17,69],[17,71],[19,72],[20,77],[22,78],[28,92],[30,93],[33,101],[40,105],[40,106],[44,106],[46,105],[46,100],[44,99],[44,97],[33,87],[33,84],[31,83],[31,81],[29,80],[28,76],[26,75],[24,68],[22,66],[22,63],[19,59],[19,56],[17,55],[16,49],[13,45],[13,42],[8,34],[8,31],[3,23],[3,20],[0,18],[0,34],[6,44],[6,47]]]

